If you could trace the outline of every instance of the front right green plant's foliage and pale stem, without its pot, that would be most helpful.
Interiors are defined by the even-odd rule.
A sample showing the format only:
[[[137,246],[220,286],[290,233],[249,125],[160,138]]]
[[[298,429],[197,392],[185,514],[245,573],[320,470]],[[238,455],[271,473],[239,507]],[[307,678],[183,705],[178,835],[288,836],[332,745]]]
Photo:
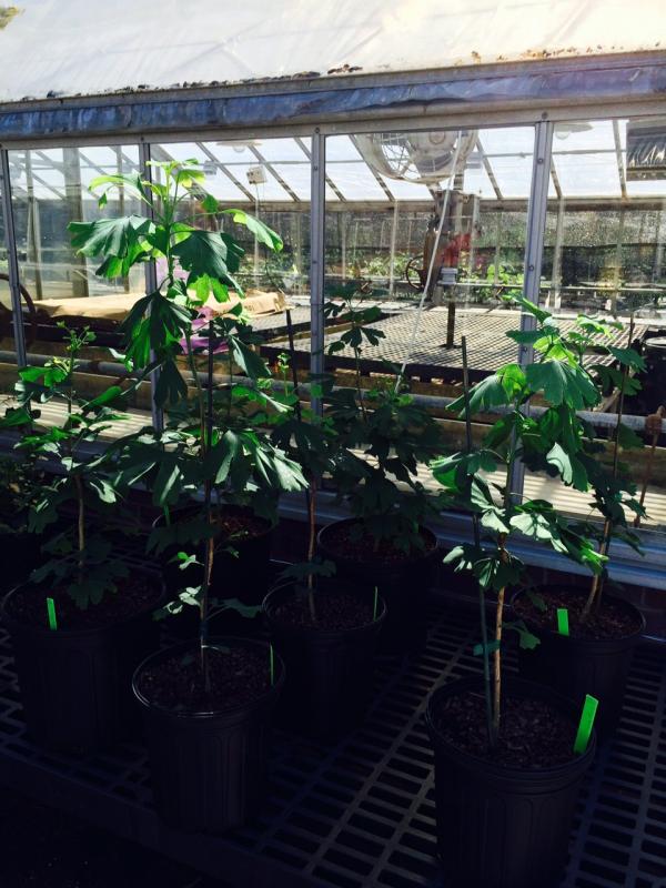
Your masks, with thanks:
[[[518,461],[581,492],[592,492],[597,509],[606,518],[612,516],[617,533],[630,542],[635,539],[625,529],[625,509],[640,509],[634,486],[617,477],[616,465],[609,468],[599,460],[603,445],[596,441],[594,427],[578,415],[601,404],[608,380],[626,383],[628,372],[640,369],[640,356],[633,349],[604,343],[610,333],[608,324],[581,316],[572,330],[563,330],[547,311],[526,299],[516,302],[534,319],[534,329],[511,331],[507,335],[533,346],[534,359],[523,366],[506,364],[472,389],[465,386],[464,394],[450,410],[467,422],[477,413],[500,411],[502,415],[486,433],[482,446],[468,446],[433,464],[435,478],[451,505],[471,513],[480,528],[474,543],[457,546],[445,562],[456,571],[473,574],[483,593],[483,597],[496,595],[493,637],[485,632],[482,620],[482,642],[477,647],[484,657],[491,747],[501,729],[503,630],[515,628],[524,646],[538,643],[524,624],[504,622],[507,588],[529,585],[525,564],[513,544],[519,537],[529,537],[586,566],[595,578],[603,574],[607,562],[607,548],[597,547],[597,534],[591,523],[569,521],[549,501],[521,501],[514,495],[512,478]],[[595,364],[591,350],[609,355],[619,370]],[[531,413],[529,402],[537,396],[545,408]],[[622,436],[625,443],[635,443],[635,436],[619,422],[617,430],[616,440]],[[505,476],[505,481],[496,481],[496,473]],[[594,587],[598,585],[597,579]]]

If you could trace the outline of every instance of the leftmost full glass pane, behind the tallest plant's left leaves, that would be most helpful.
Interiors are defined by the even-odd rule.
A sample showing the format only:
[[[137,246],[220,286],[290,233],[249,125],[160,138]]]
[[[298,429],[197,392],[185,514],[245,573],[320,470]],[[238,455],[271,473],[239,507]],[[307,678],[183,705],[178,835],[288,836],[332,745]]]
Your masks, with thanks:
[[[75,383],[81,393],[98,394],[122,373],[119,365],[115,376],[104,375],[97,362],[114,361],[109,347],[120,345],[119,324],[145,293],[145,275],[143,268],[137,268],[128,278],[98,278],[100,260],[77,253],[68,226],[71,222],[143,213],[140,201],[124,188],[110,191],[104,206],[89,188],[101,175],[135,174],[139,149],[88,145],[17,150],[9,152],[9,161],[28,362],[39,364],[64,354],[59,324],[89,326],[95,340],[83,350],[81,360],[92,363],[84,364]],[[150,410],[148,384],[133,393],[129,406],[139,412],[137,422],[142,423]],[[44,421],[57,418],[59,410],[56,402],[46,406]]]

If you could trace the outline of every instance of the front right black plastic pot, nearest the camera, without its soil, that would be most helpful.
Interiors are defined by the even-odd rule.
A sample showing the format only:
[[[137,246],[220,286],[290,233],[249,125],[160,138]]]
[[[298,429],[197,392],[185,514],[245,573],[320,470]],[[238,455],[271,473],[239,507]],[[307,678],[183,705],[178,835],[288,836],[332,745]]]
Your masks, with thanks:
[[[437,731],[434,714],[448,696],[483,693],[463,678],[430,698],[426,726],[435,751],[437,848],[446,885],[455,888],[549,888],[559,885],[578,789],[595,753],[554,768],[518,770],[464,753]],[[572,703],[551,688],[504,679],[504,693],[546,699],[577,720]]]

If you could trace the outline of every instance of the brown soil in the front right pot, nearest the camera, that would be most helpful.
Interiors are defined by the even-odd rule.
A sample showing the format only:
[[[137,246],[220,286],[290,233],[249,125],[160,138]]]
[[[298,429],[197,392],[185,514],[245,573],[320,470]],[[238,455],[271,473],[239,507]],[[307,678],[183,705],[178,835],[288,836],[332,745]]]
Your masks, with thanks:
[[[507,768],[537,770],[574,758],[576,726],[546,700],[505,693],[500,738],[492,754],[485,713],[482,694],[460,694],[442,700],[433,712],[433,723],[456,749]]]

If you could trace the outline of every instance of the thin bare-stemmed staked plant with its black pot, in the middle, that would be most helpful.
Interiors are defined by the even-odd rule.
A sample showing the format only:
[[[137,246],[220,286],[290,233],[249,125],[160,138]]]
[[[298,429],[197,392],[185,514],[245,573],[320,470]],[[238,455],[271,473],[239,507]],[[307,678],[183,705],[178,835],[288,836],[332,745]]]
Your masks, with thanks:
[[[283,572],[263,609],[286,664],[279,709],[283,723],[329,739],[363,718],[386,609],[376,587],[354,588],[335,576],[334,564],[315,555],[317,488],[339,444],[330,418],[301,407],[295,375],[291,391],[286,373],[283,384],[293,411],[279,418],[273,440],[300,462],[309,482],[307,558]]]

